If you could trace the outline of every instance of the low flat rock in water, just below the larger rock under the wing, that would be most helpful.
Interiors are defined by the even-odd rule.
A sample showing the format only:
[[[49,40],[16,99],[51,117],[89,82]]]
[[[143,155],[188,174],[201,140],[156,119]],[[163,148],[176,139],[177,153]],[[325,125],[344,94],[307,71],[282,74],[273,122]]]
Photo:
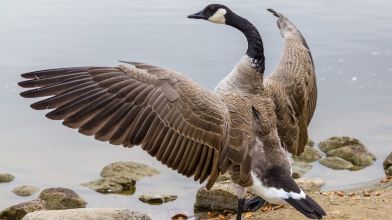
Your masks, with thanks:
[[[112,176],[85,182],[81,185],[101,193],[117,193],[123,190],[129,190],[135,183],[136,179],[134,177]]]

